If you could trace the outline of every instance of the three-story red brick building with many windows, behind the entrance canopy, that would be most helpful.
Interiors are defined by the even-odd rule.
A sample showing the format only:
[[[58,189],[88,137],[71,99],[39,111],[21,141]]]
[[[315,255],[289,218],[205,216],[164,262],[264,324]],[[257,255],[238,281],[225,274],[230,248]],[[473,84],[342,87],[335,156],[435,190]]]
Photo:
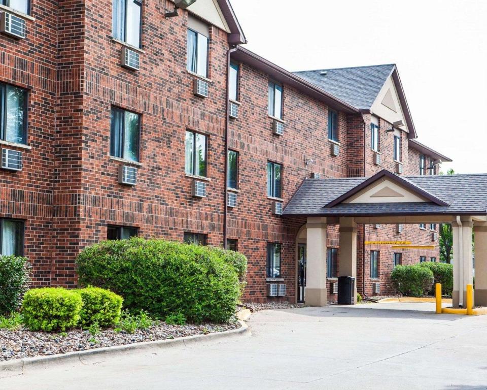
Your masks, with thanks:
[[[435,174],[448,159],[415,140],[394,65],[293,74],[241,46],[227,0],[180,7],[0,4],[2,254],[27,256],[37,286],[75,286],[77,253],[100,240],[226,245],[249,259],[246,300],[300,300],[305,219],[280,210],[305,177]],[[390,291],[394,262],[439,260],[434,232],[362,225],[359,291]],[[328,237],[332,288],[338,229]]]

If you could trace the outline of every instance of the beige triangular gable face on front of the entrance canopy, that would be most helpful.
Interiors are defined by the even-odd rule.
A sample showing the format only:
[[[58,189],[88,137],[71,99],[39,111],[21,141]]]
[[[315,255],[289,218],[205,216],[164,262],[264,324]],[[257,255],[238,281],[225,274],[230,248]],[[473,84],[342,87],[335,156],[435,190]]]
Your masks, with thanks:
[[[365,187],[343,203],[418,203],[427,200],[410,189],[384,178]]]

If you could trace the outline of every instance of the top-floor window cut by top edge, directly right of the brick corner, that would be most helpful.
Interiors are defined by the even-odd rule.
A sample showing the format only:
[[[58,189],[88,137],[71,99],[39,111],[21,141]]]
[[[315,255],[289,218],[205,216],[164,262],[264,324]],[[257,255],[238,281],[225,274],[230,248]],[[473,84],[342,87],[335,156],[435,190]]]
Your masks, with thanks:
[[[113,0],[112,33],[115,39],[141,47],[142,2]]]

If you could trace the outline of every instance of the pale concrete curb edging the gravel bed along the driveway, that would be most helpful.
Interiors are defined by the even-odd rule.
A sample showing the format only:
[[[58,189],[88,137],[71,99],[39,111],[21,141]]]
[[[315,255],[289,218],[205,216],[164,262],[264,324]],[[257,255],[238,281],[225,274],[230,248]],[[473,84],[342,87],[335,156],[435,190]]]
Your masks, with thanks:
[[[87,361],[95,356],[98,357],[101,355],[110,355],[112,357],[122,355],[125,352],[130,352],[134,350],[153,351],[164,348],[188,346],[191,344],[213,341],[233,336],[243,336],[250,333],[249,327],[245,322],[241,320],[239,320],[238,322],[240,323],[240,328],[238,329],[232,329],[225,332],[215,332],[207,335],[194,335],[180,337],[176,339],[144,341],[140,343],[115,345],[112,347],[94,348],[84,351],[59,353],[50,356],[35,356],[33,358],[8,360],[6,362],[0,362],[0,378],[25,374],[30,369],[43,368],[49,365],[58,365],[63,363],[86,364],[88,362],[84,363],[83,361]]]

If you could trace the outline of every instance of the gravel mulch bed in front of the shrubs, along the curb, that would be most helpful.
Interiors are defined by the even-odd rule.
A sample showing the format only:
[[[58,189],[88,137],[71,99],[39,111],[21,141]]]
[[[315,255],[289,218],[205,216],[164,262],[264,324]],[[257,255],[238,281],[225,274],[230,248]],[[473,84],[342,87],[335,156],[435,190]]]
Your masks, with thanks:
[[[192,335],[202,335],[238,329],[238,322],[183,326],[160,322],[148,329],[137,329],[134,333],[102,330],[93,336],[88,331],[72,330],[65,333],[30,332],[28,330],[9,331],[0,329],[0,362],[10,359],[29,358],[40,355],[54,355],[71,351],[133,344],[142,341],[175,339]]]

